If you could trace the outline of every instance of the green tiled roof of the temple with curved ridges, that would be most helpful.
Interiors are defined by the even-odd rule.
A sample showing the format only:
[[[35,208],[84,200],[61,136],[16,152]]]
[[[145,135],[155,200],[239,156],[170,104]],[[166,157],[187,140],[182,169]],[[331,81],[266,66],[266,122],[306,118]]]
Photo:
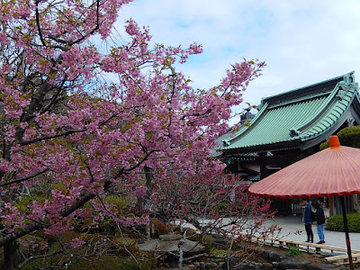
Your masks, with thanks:
[[[358,85],[352,73],[263,99],[262,108],[250,126],[234,138],[223,140],[223,150],[242,150],[317,138],[341,119]],[[296,141],[296,143],[295,143]]]

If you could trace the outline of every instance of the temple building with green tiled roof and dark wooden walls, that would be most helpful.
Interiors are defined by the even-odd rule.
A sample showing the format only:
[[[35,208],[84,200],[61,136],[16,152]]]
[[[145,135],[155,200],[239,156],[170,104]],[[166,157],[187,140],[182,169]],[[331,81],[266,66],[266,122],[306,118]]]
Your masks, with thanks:
[[[250,124],[222,139],[221,158],[229,171],[256,182],[319,151],[338,130],[358,124],[358,84],[350,72],[263,98]],[[337,214],[337,198],[329,201],[331,214]],[[296,211],[288,200],[273,203],[282,214]]]

